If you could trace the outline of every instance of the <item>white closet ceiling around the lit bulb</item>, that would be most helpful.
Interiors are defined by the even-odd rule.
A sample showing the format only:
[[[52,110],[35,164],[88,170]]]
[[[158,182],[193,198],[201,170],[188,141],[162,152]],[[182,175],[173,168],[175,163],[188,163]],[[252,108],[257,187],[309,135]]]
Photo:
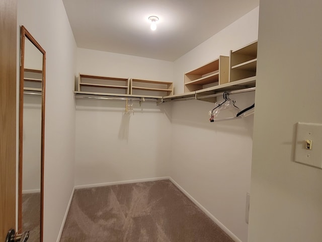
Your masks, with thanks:
[[[77,47],[174,61],[259,0],[63,0]],[[156,31],[148,17],[159,18]]]

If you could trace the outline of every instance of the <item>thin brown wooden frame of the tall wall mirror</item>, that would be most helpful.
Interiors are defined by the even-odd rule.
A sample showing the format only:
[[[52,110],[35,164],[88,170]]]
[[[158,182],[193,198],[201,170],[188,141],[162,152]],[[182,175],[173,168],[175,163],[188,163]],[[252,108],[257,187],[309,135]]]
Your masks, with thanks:
[[[21,26],[21,58],[20,58],[20,98],[19,98],[19,189],[18,189],[18,231],[22,231],[22,179],[23,179],[23,111],[24,111],[24,67],[25,67],[25,38],[35,45],[43,54],[42,59],[42,84],[41,84],[41,178],[40,178],[40,242],[43,241],[43,210],[44,210],[44,143],[45,143],[45,76],[46,76],[46,52],[35,38]]]

